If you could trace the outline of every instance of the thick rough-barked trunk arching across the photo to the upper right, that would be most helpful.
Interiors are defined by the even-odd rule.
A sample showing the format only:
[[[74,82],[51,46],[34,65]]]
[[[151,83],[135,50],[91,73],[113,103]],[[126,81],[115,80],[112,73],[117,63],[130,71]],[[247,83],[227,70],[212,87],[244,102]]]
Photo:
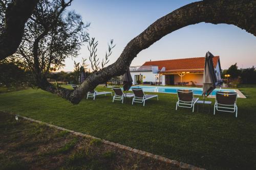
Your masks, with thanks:
[[[139,52],[169,33],[200,22],[231,24],[256,36],[256,0],[205,0],[188,4],[163,16],[132,39],[115,63],[91,74],[66,99],[78,104],[98,84],[124,74]]]

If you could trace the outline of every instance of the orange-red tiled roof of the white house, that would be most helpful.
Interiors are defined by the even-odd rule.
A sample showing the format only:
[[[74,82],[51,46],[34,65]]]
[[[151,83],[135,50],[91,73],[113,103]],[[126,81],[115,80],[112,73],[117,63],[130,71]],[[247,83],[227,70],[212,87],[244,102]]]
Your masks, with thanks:
[[[213,59],[214,67],[216,68],[220,57],[215,56]],[[203,71],[204,70],[204,57],[197,58],[184,58],[174,60],[159,60],[159,61],[147,61],[143,65],[156,65],[161,70],[165,67],[165,71]]]

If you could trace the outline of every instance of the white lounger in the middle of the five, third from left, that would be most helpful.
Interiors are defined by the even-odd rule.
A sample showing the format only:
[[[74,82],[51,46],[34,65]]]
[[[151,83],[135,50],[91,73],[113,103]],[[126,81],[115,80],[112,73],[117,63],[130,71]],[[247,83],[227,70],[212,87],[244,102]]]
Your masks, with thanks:
[[[145,106],[145,101],[151,98],[157,98],[158,95],[156,94],[144,94],[143,90],[141,88],[133,88],[134,98],[133,103],[143,103],[143,106]],[[132,103],[132,105],[133,105]]]

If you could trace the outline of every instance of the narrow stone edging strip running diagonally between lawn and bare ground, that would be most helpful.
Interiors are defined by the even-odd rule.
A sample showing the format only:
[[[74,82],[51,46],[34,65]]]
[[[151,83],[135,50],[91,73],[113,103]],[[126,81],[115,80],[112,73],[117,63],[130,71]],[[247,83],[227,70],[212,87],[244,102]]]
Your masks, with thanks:
[[[80,132],[75,132],[75,131],[72,131],[72,130],[69,130],[69,129],[65,129],[65,128],[61,128],[61,127],[55,126],[55,125],[44,123],[44,122],[41,122],[39,120],[35,120],[35,119],[32,119],[32,118],[29,118],[29,117],[20,116],[20,115],[17,115],[17,116],[21,117],[21,118],[24,118],[26,120],[29,120],[31,122],[35,122],[35,123],[39,123],[39,124],[44,124],[46,126],[53,127],[55,129],[58,129],[58,130],[61,130],[61,131],[68,131],[68,132],[73,133],[74,135],[77,135],[77,136],[87,137],[87,138],[91,138],[91,139],[99,139],[99,140],[102,141],[102,143],[109,144],[109,145],[112,145],[112,146],[117,147],[119,149],[130,151],[130,152],[133,152],[135,154],[139,154],[139,155],[142,155],[142,156],[145,156],[145,157],[150,157],[150,158],[153,158],[153,159],[156,159],[156,160],[168,163],[168,164],[172,164],[172,165],[174,165],[174,166],[176,166],[178,168],[189,169],[189,170],[206,170],[204,168],[196,167],[194,165],[190,165],[190,164],[187,164],[187,163],[184,163],[184,162],[178,162],[177,160],[171,160],[171,159],[165,158],[165,157],[160,156],[160,155],[155,155],[155,154],[152,154],[152,153],[149,153],[149,152],[133,149],[131,147],[127,147],[127,146],[119,144],[119,143],[111,142],[109,140],[104,140],[104,139],[101,139],[101,138],[98,138],[98,137],[94,137],[94,136],[91,136],[91,135],[83,134],[83,133],[80,133]]]

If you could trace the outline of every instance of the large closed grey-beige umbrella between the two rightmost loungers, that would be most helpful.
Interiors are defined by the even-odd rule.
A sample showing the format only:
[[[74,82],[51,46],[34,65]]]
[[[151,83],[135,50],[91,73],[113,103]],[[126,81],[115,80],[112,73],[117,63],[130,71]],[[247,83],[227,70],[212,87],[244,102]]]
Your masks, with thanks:
[[[207,52],[205,55],[205,64],[204,64],[204,76],[203,76],[203,95],[208,96],[215,88],[217,77],[214,69],[214,62],[212,61],[214,55],[210,52]]]

